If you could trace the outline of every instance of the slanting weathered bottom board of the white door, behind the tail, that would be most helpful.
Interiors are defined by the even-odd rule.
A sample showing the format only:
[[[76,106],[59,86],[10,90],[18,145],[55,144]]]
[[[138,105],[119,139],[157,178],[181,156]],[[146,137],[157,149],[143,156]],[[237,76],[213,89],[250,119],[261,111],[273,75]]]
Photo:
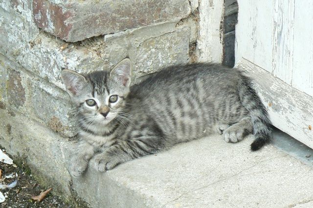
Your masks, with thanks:
[[[237,65],[253,78],[273,125],[313,148],[313,98],[246,59]]]

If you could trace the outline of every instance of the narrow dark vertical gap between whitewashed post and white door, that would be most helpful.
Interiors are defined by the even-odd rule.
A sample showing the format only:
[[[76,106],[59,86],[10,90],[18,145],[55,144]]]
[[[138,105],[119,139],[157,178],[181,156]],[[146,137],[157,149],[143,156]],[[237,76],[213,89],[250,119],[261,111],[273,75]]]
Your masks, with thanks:
[[[234,67],[235,64],[235,26],[238,16],[237,0],[225,0],[223,65]]]

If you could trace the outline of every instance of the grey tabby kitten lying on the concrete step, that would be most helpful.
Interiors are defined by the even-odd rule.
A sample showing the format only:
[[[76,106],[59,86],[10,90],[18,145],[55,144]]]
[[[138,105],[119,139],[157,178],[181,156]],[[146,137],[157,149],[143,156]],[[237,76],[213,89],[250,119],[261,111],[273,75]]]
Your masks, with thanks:
[[[251,150],[270,139],[270,120],[249,78],[215,64],[174,66],[131,85],[131,61],[86,75],[64,69],[77,108],[80,141],[71,172],[98,171],[214,132],[238,142],[253,132]]]

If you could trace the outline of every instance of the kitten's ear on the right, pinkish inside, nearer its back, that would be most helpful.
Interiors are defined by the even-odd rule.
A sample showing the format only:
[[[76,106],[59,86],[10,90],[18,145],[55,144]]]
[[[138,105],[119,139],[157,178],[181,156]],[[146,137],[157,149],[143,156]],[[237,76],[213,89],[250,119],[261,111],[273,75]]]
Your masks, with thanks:
[[[110,76],[124,87],[131,85],[132,62],[126,58],[112,69]]]

